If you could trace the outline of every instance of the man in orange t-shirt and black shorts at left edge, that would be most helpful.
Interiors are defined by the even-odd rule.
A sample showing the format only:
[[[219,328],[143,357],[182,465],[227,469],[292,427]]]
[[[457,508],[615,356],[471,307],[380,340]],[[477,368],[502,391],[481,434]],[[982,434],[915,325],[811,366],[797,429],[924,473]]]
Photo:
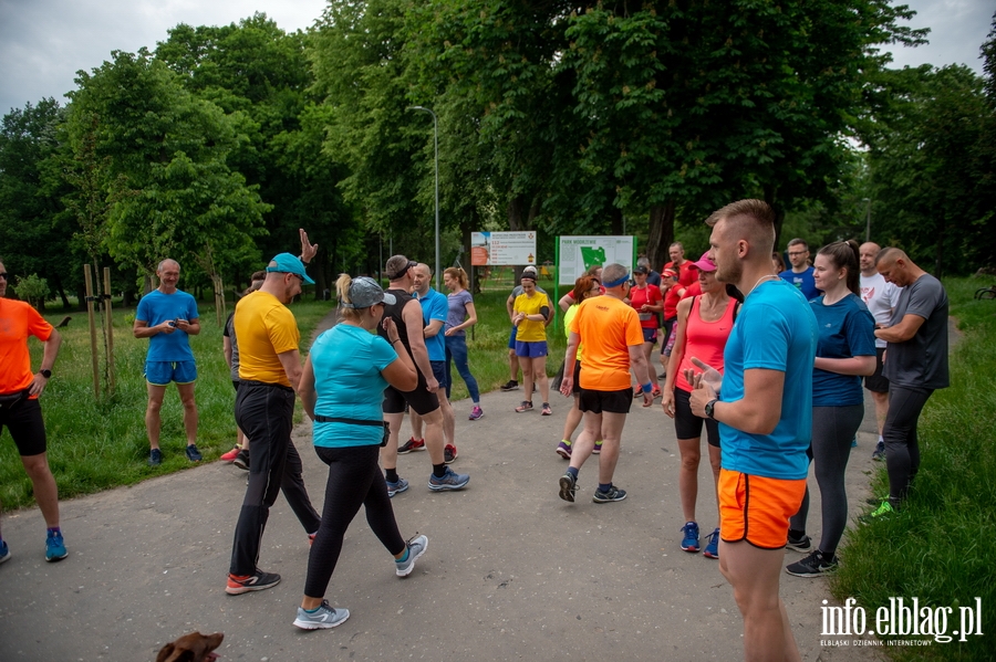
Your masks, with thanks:
[[[65,543],[59,528],[59,490],[45,454],[45,423],[38,397],[52,377],[62,337],[52,325],[24,302],[3,298],[10,276],[0,262],[0,432],[6,425],[18,446],[21,463],[34,488],[34,500],[48,527],[45,560],[65,558]],[[41,368],[31,372],[28,337],[44,343]],[[10,548],[0,538],[0,564],[10,558]]]

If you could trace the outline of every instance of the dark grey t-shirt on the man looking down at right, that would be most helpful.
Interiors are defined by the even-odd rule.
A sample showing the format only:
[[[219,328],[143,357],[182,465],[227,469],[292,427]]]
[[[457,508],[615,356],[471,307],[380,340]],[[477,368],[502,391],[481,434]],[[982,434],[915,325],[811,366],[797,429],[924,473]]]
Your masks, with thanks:
[[[883,376],[890,383],[906,388],[947,388],[947,293],[941,281],[925,274],[903,287],[892,324],[906,315],[919,315],[924,323],[905,343],[885,346]]]

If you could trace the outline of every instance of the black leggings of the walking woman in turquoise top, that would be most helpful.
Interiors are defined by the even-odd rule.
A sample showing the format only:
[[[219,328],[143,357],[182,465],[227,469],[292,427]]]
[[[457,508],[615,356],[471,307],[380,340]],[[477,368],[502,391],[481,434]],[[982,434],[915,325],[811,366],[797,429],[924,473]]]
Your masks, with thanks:
[[[324,597],[342,551],[342,538],[360,512],[361,504],[366,506],[366,522],[371,530],[387,551],[395,555],[405,548],[387,496],[384,474],[377,466],[380,451],[377,444],[342,449],[314,446],[319,459],[329,465],[329,482],[325,485],[322,525],[308,557],[304,595],[309,598]]]

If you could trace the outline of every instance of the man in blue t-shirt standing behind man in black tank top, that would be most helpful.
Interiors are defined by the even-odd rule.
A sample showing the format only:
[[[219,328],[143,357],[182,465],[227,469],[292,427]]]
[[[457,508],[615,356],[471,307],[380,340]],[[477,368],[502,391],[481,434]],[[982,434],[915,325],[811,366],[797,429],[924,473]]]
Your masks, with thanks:
[[[425,322],[425,348],[428,350],[429,364],[433,367],[433,377],[439,382],[436,397],[439,398],[439,409],[443,411],[443,439],[446,445],[443,448],[443,458],[446,464],[456,460],[456,416],[453,406],[446,398],[446,337],[443,335],[443,326],[449,314],[449,302],[446,295],[429,287],[433,279],[433,270],[428,264],[418,263],[412,267],[415,276],[415,298],[422,306],[422,318]],[[422,417],[414,409],[408,409],[412,418],[412,439],[422,439]]]

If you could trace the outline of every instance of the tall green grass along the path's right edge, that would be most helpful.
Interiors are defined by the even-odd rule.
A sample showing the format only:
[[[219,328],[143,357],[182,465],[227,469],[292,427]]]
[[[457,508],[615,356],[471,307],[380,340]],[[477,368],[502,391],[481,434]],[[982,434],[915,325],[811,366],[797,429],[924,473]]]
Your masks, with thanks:
[[[892,517],[851,530],[844,563],[832,580],[834,595],[854,597],[873,624],[890,597],[921,605],[957,607],[982,598],[983,627],[990,634],[996,606],[993,550],[996,539],[996,301],[974,301],[993,279],[944,282],[951,314],[964,334],[951,357],[951,388],[934,392],[920,418],[922,463],[905,507]],[[884,467],[872,479],[888,492]],[[958,629],[958,610],[948,624]],[[953,621],[953,622],[952,622]],[[986,637],[930,647],[883,649],[891,659],[992,660]]]

